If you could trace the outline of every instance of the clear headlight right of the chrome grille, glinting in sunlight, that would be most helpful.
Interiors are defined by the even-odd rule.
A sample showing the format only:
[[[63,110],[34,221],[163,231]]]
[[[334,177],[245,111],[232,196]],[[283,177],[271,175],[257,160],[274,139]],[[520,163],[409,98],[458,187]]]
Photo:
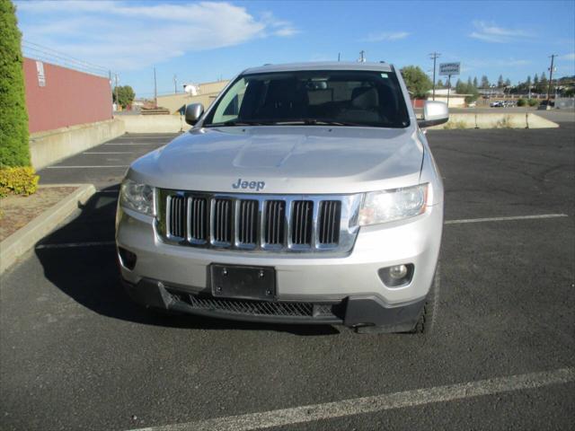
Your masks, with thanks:
[[[418,216],[425,211],[428,185],[366,193],[359,210],[359,225],[378,224]]]

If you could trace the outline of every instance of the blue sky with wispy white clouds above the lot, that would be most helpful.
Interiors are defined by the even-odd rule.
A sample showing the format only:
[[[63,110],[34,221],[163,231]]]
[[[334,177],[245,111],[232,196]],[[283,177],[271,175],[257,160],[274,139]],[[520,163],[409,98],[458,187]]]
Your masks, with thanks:
[[[267,63],[461,62],[461,79],[575,75],[574,1],[14,1],[24,53],[61,54],[118,74],[137,97],[230,79]],[[49,51],[50,49],[50,51]]]

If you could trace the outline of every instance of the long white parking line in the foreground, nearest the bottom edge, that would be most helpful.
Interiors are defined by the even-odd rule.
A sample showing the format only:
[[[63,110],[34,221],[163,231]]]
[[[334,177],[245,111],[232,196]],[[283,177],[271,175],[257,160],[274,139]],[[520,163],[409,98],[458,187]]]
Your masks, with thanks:
[[[131,431],[247,431],[269,427],[285,427],[315,420],[343,418],[366,413],[376,413],[389,409],[421,406],[435,402],[463,400],[503,392],[541,388],[553,384],[571,383],[574,381],[575,369],[561,368],[559,370],[541,373],[509,375],[477,382],[421,388],[413,391],[387,393],[373,397],[312,404],[292,409],[278,409],[159,427],[138,428],[132,429]]]

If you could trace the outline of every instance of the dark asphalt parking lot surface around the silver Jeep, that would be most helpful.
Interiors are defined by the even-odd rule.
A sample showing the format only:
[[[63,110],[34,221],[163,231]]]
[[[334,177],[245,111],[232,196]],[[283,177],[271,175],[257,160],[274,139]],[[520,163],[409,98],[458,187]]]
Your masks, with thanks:
[[[172,136],[43,170],[100,191],[2,278],[0,427],[572,428],[575,123],[561,126],[429,131],[447,224],[425,336],[153,317],[119,286],[114,212],[129,162]]]

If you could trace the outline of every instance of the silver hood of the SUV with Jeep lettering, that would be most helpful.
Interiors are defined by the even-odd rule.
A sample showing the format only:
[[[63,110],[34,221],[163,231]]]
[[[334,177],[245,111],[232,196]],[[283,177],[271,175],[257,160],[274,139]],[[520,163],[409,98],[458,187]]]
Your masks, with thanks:
[[[164,189],[343,194],[417,184],[422,157],[414,128],[200,128],[139,158],[128,176]]]

